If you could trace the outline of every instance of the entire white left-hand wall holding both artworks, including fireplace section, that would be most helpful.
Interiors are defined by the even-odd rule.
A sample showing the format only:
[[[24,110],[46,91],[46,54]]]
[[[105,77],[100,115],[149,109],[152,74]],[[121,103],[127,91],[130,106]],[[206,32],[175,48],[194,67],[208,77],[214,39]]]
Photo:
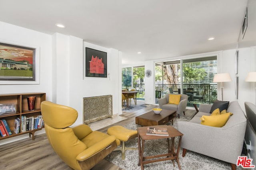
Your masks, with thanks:
[[[37,56],[40,57],[39,84],[0,85],[0,94],[45,92],[46,100],[73,107],[78,111],[78,119],[73,125],[83,122],[84,97],[111,94],[113,114],[122,113],[120,51],[86,43],[78,37],[60,33],[48,35],[4,22],[0,22],[0,27],[1,40],[40,47],[40,56]],[[84,77],[85,47],[108,53],[108,78]],[[44,129],[35,135],[41,133],[44,133]],[[27,137],[28,134],[25,134],[1,140],[0,145]]]

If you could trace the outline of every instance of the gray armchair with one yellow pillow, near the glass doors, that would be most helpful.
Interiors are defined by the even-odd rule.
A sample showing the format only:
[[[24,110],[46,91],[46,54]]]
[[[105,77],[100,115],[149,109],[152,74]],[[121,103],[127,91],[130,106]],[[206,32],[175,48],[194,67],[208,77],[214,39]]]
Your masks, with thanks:
[[[180,118],[180,114],[183,112],[185,115],[185,110],[188,102],[188,95],[186,94],[174,94],[174,95],[181,95],[180,96],[180,103],[176,104],[169,104],[169,94],[166,94],[164,98],[158,99],[158,104],[161,109],[168,109],[168,110],[176,110],[178,117]]]

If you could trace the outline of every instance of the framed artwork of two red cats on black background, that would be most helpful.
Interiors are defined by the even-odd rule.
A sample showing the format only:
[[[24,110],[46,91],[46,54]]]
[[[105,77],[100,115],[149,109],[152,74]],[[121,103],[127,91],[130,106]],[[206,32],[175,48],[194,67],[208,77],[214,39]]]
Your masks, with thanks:
[[[95,49],[85,48],[86,77],[107,77],[107,53]]]

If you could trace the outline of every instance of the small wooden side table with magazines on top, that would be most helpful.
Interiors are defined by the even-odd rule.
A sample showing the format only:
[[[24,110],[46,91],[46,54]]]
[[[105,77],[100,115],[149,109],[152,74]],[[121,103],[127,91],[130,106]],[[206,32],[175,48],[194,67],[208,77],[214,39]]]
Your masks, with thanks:
[[[179,162],[179,150],[180,150],[180,143],[181,143],[181,139],[183,134],[180,133],[180,131],[178,131],[177,129],[175,129],[172,126],[168,126],[168,125],[158,125],[158,126],[151,126],[151,127],[167,127],[168,129],[168,133],[169,136],[156,136],[156,135],[146,135],[146,131],[147,131],[147,127],[138,127],[137,131],[138,131],[138,149],[139,149],[139,163],[138,166],[141,167],[141,170],[143,170],[143,165],[144,164],[149,164],[152,162],[159,162],[159,161],[163,161],[163,160],[172,160],[172,164],[174,165],[174,160],[177,160],[179,169],[180,169],[180,162]],[[178,144],[178,148],[175,151],[174,148],[174,139],[175,137],[180,137],[179,139],[179,144]],[[146,140],[154,140],[154,139],[164,139],[167,138],[167,144],[168,144],[168,153],[166,154],[159,154],[159,155],[155,155],[155,156],[143,156],[143,152],[144,152],[144,142]],[[170,147],[170,141],[169,138],[172,138],[172,145]],[[160,158],[163,157],[163,158]],[[156,159],[153,159],[156,158]],[[153,159],[153,160],[152,160]]]

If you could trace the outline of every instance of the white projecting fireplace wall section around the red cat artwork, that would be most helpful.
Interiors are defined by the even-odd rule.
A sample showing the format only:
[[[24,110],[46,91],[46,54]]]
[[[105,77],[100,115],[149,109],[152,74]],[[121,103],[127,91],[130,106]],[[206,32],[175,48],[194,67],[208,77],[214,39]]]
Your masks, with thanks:
[[[113,114],[121,114],[121,80],[118,64],[122,60],[121,53],[116,49],[108,49],[91,43],[83,42],[74,36],[55,33],[53,35],[53,89],[56,89],[56,102],[73,107],[78,111],[78,119],[72,125],[83,123],[83,98],[112,95]],[[107,52],[107,78],[85,77],[85,47]]]

